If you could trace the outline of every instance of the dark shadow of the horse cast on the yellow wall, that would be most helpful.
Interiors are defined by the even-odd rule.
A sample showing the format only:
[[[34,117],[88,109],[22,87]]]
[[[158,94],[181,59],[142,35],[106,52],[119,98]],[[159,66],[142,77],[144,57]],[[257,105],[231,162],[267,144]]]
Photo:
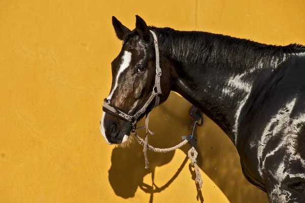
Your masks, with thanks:
[[[171,93],[167,101],[150,115],[149,128],[156,133],[156,136],[149,137],[149,144],[159,148],[169,148],[180,143],[181,136],[187,136],[191,132],[193,121],[188,115],[191,106],[186,99]],[[139,124],[143,124],[143,119]],[[144,131],[139,133],[142,137]],[[196,128],[195,136],[198,139],[198,166],[214,181],[230,202],[267,202],[266,194],[243,177],[236,148],[214,122],[204,116],[204,124]],[[143,147],[136,140],[128,148],[115,147],[109,170],[109,182],[113,191],[120,197],[130,198],[134,197],[136,190],[140,188],[150,194],[149,202],[153,202],[154,194],[169,187],[186,166],[189,149],[189,145],[178,149],[186,154],[185,160],[165,185],[157,187],[154,184],[155,168],[169,163],[174,151],[168,153],[147,151],[149,168],[145,169]],[[188,167],[194,180],[195,174],[191,167]],[[151,174],[153,185],[143,183],[143,178],[148,174]],[[200,188],[196,186],[197,200],[203,202]]]

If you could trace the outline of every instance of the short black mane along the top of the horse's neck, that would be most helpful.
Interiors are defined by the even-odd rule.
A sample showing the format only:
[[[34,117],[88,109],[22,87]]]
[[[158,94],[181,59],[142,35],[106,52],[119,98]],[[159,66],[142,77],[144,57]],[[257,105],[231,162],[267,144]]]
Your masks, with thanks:
[[[300,44],[276,46],[204,31],[154,26],[149,29],[156,31],[163,54],[179,62],[217,64],[241,70],[260,62],[282,61],[285,54],[305,52],[305,46]]]

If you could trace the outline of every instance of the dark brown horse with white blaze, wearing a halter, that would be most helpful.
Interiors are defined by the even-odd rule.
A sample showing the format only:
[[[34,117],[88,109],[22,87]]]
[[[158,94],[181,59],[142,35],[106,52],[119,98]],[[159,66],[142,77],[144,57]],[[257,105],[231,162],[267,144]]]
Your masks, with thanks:
[[[100,121],[108,144],[128,141],[174,91],[227,134],[269,202],[305,202],[305,46],[147,26],[138,15],[133,30],[114,16],[112,25],[123,46]]]

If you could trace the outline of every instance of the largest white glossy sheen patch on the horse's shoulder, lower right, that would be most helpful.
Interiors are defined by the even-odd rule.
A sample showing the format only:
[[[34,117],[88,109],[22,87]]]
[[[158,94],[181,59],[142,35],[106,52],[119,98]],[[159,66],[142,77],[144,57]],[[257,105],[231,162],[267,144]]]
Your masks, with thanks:
[[[297,147],[300,145],[297,140],[299,136],[302,136],[300,129],[305,123],[305,114],[301,113],[298,116],[293,118],[291,117],[295,102],[296,98],[292,99],[289,103],[287,103],[286,107],[282,108],[278,114],[270,120],[264,130],[263,137],[258,147],[259,173],[261,177],[263,177],[263,171],[267,172],[277,180],[277,182],[273,185],[273,188],[270,188],[270,200],[275,200],[277,202],[279,200],[279,202],[288,202],[291,200],[291,192],[283,189],[285,180],[293,179],[295,177],[305,179],[305,174],[296,174],[293,170],[291,170],[291,166],[293,167],[294,163],[301,163],[303,167],[305,166],[305,160],[297,151]],[[272,125],[276,126],[271,130],[270,128]],[[273,150],[268,151],[264,157],[262,157],[263,151],[267,150],[265,149],[265,146],[268,142],[272,142],[271,138],[275,136],[277,136],[277,139],[280,141],[279,144]],[[277,152],[281,154],[277,154]],[[267,161],[268,157],[271,158],[272,156],[277,156],[278,158],[282,158],[282,160],[280,164],[273,166],[277,167],[276,171],[265,171],[265,162]],[[271,160],[270,158],[269,160]]]

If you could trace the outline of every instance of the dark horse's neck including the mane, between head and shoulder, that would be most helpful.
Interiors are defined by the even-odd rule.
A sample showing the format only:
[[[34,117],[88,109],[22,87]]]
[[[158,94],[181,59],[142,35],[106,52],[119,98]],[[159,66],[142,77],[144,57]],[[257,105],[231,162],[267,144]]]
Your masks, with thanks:
[[[161,54],[172,60],[172,90],[199,108],[236,145],[239,115],[253,83],[289,50],[206,32],[155,28]],[[277,54],[275,54],[277,53]]]

